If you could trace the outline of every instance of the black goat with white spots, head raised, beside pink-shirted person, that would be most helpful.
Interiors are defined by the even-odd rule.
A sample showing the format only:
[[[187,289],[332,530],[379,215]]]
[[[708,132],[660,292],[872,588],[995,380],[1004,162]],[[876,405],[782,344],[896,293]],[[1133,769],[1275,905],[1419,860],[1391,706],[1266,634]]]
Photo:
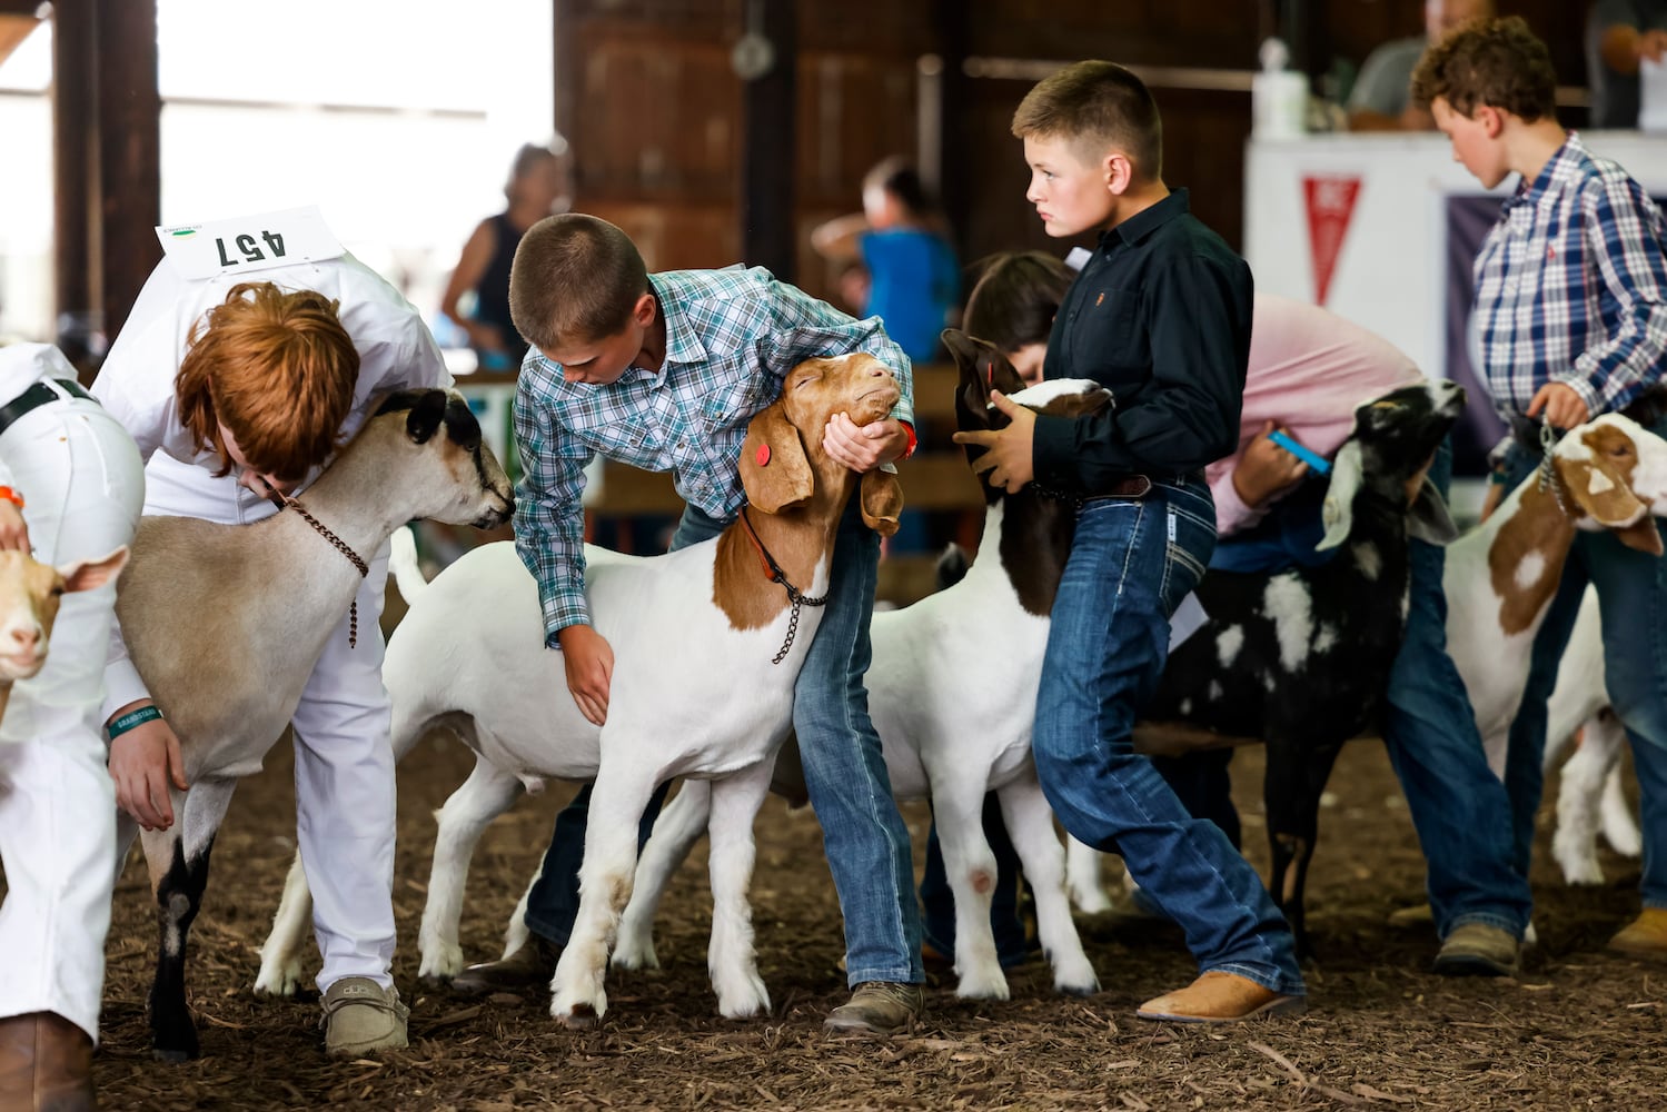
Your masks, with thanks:
[[[1405,629],[1409,537],[1455,532],[1424,473],[1462,408],[1464,390],[1434,380],[1357,407],[1319,545],[1345,550],[1319,567],[1205,575],[1209,620],[1170,654],[1135,727],[1145,752],[1267,744],[1269,892],[1300,952],[1320,792],[1344,742],[1379,722]]]

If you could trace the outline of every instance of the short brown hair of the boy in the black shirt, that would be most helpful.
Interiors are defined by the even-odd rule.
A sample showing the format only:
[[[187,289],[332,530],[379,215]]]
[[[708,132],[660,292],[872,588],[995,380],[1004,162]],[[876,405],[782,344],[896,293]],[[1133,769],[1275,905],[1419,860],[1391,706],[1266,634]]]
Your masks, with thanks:
[[[1115,62],[1077,62],[1037,82],[1014,112],[1019,138],[1064,138],[1095,162],[1120,150],[1135,172],[1164,177],[1164,122],[1152,90]]]

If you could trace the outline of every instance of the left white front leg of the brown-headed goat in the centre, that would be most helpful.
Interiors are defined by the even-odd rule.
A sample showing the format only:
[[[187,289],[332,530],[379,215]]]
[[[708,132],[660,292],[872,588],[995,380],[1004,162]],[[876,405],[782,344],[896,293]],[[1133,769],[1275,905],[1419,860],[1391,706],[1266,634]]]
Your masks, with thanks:
[[[608,765],[610,744],[615,764]],[[578,914],[550,979],[550,1015],[565,1027],[593,1027],[608,1010],[603,979],[620,912],[637,872],[637,824],[660,769],[647,765],[630,739],[602,739],[603,765],[590,790],[585,860],[578,867]]]

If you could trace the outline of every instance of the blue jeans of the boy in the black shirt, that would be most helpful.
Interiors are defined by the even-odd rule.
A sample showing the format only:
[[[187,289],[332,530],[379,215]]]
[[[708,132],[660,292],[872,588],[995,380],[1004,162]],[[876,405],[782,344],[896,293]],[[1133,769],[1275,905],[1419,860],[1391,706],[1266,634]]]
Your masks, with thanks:
[[[1157,482],[1142,500],[1082,507],[1042,664],[1037,775],[1065,829],[1120,854],[1180,924],[1202,970],[1302,994],[1295,940],[1260,877],[1132,745],[1135,715],[1164,672],[1169,615],[1214,545],[1215,507],[1197,477]]]

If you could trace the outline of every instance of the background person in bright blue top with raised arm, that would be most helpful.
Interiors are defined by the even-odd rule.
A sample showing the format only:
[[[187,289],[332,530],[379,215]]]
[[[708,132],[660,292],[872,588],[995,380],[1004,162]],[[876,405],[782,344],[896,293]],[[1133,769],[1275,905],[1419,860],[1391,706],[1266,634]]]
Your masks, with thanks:
[[[817,227],[810,243],[827,258],[860,258],[869,270],[860,313],[884,320],[912,362],[940,358],[939,333],[954,323],[960,297],[960,263],[937,202],[907,160],[885,158],[869,170],[862,212]]]

